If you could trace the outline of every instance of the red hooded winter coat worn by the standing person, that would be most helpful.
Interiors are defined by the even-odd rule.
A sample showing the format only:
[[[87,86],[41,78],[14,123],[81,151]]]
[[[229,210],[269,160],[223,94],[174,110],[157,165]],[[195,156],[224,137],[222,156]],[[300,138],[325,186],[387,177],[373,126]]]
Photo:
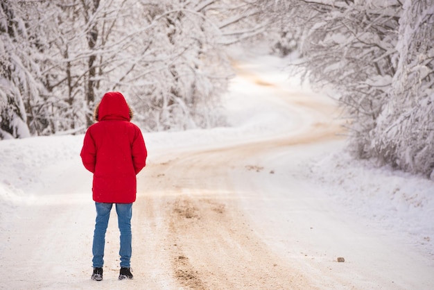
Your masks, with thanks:
[[[139,127],[130,123],[130,108],[120,92],[107,92],[96,108],[97,123],[87,129],[80,156],[94,173],[98,203],[136,200],[136,174],[146,165],[146,146]]]

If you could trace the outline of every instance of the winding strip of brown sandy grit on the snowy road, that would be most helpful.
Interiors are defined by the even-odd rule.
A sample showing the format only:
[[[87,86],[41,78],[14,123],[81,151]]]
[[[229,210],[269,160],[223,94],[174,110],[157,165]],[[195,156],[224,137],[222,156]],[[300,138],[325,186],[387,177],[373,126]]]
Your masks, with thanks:
[[[149,228],[135,238],[140,240],[135,255],[153,260],[150,272],[164,273],[170,267],[171,287],[319,289],[264,243],[240,206],[239,198],[245,196],[234,189],[230,175],[261,170],[245,164],[254,155],[336,138],[341,129],[330,114],[336,109],[249,78],[283,100],[288,113],[300,114],[295,132],[200,151],[166,151],[139,180],[143,193],[134,205],[134,228],[137,234],[143,221]],[[302,119],[306,116],[309,120]],[[150,241],[156,232],[158,237]]]

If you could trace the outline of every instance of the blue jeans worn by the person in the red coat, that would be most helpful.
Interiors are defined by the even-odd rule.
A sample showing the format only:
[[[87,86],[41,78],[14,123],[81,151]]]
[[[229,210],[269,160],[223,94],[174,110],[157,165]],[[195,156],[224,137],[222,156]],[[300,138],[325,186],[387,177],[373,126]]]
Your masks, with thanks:
[[[104,264],[105,232],[110,218],[110,211],[113,203],[95,203],[96,223],[94,231],[94,244],[92,253],[94,258],[92,263],[94,268],[102,268]],[[116,213],[118,214],[119,231],[121,232],[121,267],[130,268],[131,259],[131,216],[132,203],[116,203]]]

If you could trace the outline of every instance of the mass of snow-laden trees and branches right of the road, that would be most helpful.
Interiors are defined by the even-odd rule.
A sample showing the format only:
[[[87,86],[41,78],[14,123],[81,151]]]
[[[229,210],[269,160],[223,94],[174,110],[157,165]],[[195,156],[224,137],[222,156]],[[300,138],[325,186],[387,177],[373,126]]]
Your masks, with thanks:
[[[433,155],[433,1],[254,1],[302,28],[300,67],[331,84],[350,120],[350,149],[430,175]]]

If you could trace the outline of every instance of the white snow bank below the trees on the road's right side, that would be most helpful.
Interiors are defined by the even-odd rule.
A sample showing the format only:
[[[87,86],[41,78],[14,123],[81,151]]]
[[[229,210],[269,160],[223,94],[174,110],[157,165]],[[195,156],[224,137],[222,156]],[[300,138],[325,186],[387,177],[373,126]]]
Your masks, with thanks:
[[[390,167],[354,160],[345,151],[315,160],[310,166],[327,194],[342,209],[363,216],[369,225],[388,230],[434,257],[434,182]]]

